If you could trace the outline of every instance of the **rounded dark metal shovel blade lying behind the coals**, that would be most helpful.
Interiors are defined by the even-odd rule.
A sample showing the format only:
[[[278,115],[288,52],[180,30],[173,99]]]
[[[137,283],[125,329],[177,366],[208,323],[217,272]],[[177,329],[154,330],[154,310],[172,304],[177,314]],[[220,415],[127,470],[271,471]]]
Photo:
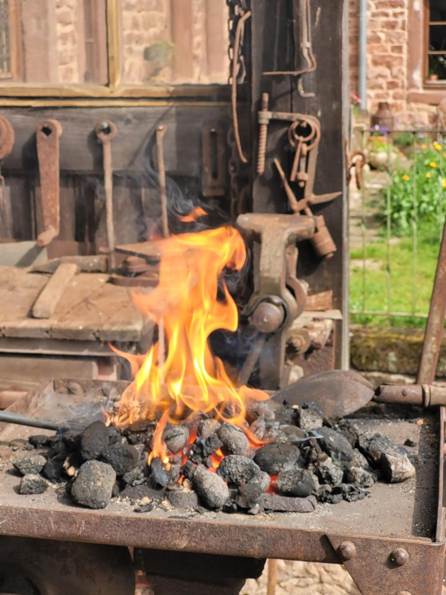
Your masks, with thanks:
[[[329,370],[301,378],[275,392],[272,399],[299,406],[313,401],[318,403],[325,417],[340,418],[366,405],[373,394],[373,385],[357,372]]]

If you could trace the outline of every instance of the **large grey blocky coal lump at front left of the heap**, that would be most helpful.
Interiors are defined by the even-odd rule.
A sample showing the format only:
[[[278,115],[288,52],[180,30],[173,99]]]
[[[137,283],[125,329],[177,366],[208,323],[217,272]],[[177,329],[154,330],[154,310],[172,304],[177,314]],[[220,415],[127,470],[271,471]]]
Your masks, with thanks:
[[[116,473],[111,465],[87,461],[79,469],[71,486],[74,502],[88,508],[105,508],[111,500]]]

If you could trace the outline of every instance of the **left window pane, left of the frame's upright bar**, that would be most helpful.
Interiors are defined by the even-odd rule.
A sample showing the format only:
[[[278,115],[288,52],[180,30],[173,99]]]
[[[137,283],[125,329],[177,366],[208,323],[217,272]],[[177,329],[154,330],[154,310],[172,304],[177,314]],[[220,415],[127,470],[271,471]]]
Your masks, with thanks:
[[[105,0],[0,0],[0,84],[107,82]]]

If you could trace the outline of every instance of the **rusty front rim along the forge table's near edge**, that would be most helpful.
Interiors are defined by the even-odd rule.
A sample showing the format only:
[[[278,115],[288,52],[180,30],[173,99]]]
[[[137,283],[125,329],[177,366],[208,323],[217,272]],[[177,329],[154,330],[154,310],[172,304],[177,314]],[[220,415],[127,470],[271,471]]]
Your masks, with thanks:
[[[133,514],[106,513],[70,509],[45,511],[17,506],[2,506],[2,534],[20,537],[39,537],[62,541],[85,541],[156,549],[185,550],[216,555],[248,556],[254,558],[283,558],[308,562],[342,563],[321,530],[299,530],[288,527],[240,525],[230,522],[206,521],[203,531],[200,522],[181,518],[150,518]],[[87,521],[90,516],[90,522]],[[51,522],[50,522],[51,519]],[[65,522],[64,522],[65,519]],[[46,526],[45,535],[39,527]],[[345,537],[344,533],[330,533],[330,538]],[[81,537],[81,538],[80,538]],[[426,547],[442,550],[444,541],[432,543],[428,538],[398,538],[349,535],[355,540],[388,543],[398,546]]]

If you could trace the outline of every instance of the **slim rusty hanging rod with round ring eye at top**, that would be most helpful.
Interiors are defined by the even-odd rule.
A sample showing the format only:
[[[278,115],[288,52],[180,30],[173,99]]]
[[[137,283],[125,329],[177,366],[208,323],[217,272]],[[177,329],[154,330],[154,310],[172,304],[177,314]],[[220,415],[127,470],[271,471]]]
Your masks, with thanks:
[[[115,227],[113,222],[113,166],[111,159],[111,142],[117,135],[118,129],[110,120],[102,120],[95,126],[98,142],[102,143],[103,186],[105,190],[105,215],[107,227],[107,255],[108,267],[115,267]]]

